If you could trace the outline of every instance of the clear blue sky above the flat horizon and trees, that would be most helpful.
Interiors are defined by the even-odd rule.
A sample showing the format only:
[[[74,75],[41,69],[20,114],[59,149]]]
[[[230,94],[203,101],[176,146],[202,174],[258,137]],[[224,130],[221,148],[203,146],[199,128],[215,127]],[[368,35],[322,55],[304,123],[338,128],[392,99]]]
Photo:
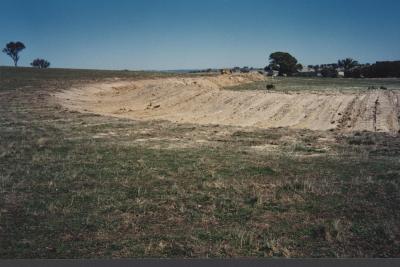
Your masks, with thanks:
[[[400,60],[398,0],[0,0],[0,45],[19,65],[175,70]],[[0,53],[0,65],[12,65]]]

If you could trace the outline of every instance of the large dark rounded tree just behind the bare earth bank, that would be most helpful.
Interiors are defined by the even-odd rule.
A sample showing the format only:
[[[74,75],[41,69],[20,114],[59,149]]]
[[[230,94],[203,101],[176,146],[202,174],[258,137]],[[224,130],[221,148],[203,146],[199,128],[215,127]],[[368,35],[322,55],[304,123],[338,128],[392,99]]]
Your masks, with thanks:
[[[279,75],[292,75],[300,68],[297,59],[286,52],[274,52],[269,56],[269,65],[266,68],[279,71]]]

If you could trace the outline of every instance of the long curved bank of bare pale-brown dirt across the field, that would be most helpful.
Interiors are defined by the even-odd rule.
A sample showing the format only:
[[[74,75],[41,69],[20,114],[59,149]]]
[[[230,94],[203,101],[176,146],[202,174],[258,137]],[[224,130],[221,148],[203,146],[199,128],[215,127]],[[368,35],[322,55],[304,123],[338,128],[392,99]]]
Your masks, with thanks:
[[[392,133],[400,129],[397,91],[288,94],[220,89],[263,79],[249,74],[110,82],[71,88],[56,97],[80,112],[138,120]]]

